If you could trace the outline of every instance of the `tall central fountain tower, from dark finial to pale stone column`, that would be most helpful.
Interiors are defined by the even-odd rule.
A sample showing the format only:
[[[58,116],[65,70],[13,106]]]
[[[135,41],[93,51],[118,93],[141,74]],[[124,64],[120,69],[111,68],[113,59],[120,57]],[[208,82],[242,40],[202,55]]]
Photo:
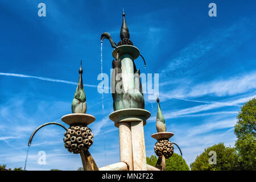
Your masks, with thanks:
[[[151,114],[144,109],[140,71],[134,63],[140,53],[129,39],[124,12],[120,37],[121,41],[115,44],[108,32],[101,35],[101,41],[109,39],[114,48],[111,80],[114,112],[109,118],[119,128],[120,161],[129,170],[147,170],[143,126]]]

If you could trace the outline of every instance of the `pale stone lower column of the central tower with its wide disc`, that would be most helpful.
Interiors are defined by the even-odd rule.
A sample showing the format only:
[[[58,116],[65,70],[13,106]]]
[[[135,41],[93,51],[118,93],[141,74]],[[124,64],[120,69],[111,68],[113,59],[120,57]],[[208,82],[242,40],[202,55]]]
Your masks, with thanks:
[[[120,162],[125,162],[129,171],[146,171],[144,129],[150,112],[144,109],[121,109],[109,118],[119,128]]]

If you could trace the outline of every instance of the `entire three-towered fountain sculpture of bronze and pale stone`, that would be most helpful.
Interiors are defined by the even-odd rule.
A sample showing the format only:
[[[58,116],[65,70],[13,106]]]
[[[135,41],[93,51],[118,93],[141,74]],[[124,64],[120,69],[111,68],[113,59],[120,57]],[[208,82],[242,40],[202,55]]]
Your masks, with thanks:
[[[166,123],[158,102],[158,113],[156,117],[156,130],[152,138],[158,140],[155,143],[155,153],[159,156],[156,167],[146,163],[146,150],[144,142],[144,129],[150,112],[144,109],[144,98],[140,80],[140,70],[136,68],[134,60],[140,55],[139,49],[133,46],[130,40],[129,29],[123,12],[123,22],[120,32],[121,41],[116,44],[108,32],[101,35],[102,40],[109,39],[114,48],[112,56],[113,73],[111,89],[113,97],[113,113],[109,118],[114,126],[119,129],[119,152],[120,162],[98,168],[89,148],[93,144],[92,130],[88,125],[95,121],[95,117],[86,114],[86,97],[84,85],[82,84],[82,65],[79,69],[79,82],[72,102],[72,114],[64,115],[61,120],[69,125],[69,128],[60,123],[46,123],[32,133],[28,146],[36,131],[46,125],[59,125],[66,131],[64,133],[64,146],[73,154],[80,154],[84,170],[122,170],[122,171],[159,171],[165,170],[165,159],[170,158],[174,152],[173,142],[169,139],[174,135],[166,132]],[[141,56],[143,61],[144,58]],[[145,61],[144,64],[146,65]],[[102,107],[103,108],[103,107]],[[179,146],[177,146],[179,148]],[[180,148],[179,148],[180,150]],[[180,151],[181,152],[181,151]],[[182,155],[182,154],[181,154]]]

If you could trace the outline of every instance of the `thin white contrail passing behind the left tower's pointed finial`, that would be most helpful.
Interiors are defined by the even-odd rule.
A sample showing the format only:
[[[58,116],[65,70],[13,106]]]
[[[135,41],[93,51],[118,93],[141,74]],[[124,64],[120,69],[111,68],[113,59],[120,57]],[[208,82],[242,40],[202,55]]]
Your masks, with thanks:
[[[65,83],[65,84],[77,85],[77,82],[73,82],[73,81],[58,80],[58,79],[47,78],[47,77],[40,77],[40,76],[30,76],[30,75],[22,75],[22,74],[16,74],[16,73],[2,73],[2,72],[0,72],[0,75],[4,75],[4,76],[15,76],[15,77],[23,77],[23,78],[36,78],[36,79],[38,79],[38,80],[53,81],[53,82],[62,82],[62,83]],[[97,88],[97,85],[84,84],[84,86]]]

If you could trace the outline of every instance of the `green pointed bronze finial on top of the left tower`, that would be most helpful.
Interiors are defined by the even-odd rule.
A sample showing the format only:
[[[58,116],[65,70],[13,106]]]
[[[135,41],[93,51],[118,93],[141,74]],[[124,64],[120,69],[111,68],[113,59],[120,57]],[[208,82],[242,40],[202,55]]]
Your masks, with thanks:
[[[86,97],[84,85],[82,84],[82,60],[79,68],[79,82],[72,102],[72,113],[86,113]]]

